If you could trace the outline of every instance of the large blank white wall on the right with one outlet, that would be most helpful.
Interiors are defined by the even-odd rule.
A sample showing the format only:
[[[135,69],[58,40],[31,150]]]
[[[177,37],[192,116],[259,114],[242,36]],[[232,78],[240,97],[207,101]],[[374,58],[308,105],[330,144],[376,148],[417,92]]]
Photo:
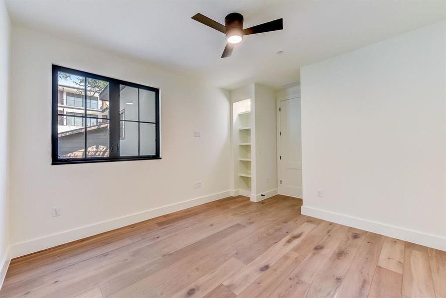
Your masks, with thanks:
[[[446,250],[446,22],[306,66],[301,93],[303,213]]]

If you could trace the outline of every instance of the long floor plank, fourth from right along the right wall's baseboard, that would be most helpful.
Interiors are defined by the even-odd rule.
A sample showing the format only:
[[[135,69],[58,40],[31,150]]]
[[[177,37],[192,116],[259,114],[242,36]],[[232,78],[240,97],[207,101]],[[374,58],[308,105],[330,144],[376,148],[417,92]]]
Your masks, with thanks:
[[[383,242],[384,236],[367,232],[343,279],[338,297],[367,297]]]

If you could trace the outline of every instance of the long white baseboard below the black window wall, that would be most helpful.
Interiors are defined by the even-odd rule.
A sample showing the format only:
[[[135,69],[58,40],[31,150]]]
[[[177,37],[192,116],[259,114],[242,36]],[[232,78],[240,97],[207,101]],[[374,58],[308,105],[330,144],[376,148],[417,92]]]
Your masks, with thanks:
[[[228,190],[200,198],[195,198],[179,203],[166,205],[150,210],[146,210],[140,213],[131,214],[121,218],[104,221],[96,224],[90,224],[79,228],[63,231],[60,233],[44,236],[41,238],[32,239],[29,241],[15,243],[10,247],[10,257],[16,258],[29,253],[54,247],[60,244],[68,243],[71,241],[86,238],[92,235],[100,234],[106,231],[110,231],[119,227],[123,227],[129,224],[135,224],[142,221],[146,221],[152,218],[156,218],[165,214],[183,210],[189,207],[201,205],[204,203],[220,200],[233,195],[233,191]]]

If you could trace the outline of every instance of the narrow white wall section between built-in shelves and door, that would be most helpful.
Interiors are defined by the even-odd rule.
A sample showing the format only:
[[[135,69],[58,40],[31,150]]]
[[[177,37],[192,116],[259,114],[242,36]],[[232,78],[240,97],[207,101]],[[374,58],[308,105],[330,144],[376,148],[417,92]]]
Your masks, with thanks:
[[[255,84],[255,148],[257,200],[277,194],[277,143],[275,91]]]

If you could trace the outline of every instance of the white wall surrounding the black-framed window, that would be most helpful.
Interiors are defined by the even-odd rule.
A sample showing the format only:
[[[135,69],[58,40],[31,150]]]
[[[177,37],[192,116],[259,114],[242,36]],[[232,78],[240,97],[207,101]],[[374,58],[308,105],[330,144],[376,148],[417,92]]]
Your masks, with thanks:
[[[160,87],[163,158],[51,165],[52,63]],[[16,26],[11,91],[12,256],[231,193],[226,91]],[[193,138],[195,130],[201,138]],[[194,189],[195,181],[201,188]],[[54,206],[60,217],[51,217]]]

